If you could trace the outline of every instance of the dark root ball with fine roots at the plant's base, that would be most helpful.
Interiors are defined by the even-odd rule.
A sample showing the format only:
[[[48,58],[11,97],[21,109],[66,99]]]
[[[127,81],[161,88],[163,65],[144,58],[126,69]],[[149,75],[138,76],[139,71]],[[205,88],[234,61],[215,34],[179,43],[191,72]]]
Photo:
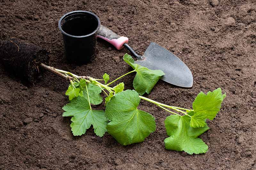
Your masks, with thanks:
[[[14,75],[34,83],[42,73],[40,64],[48,64],[47,51],[17,38],[8,38],[0,42],[0,61]]]

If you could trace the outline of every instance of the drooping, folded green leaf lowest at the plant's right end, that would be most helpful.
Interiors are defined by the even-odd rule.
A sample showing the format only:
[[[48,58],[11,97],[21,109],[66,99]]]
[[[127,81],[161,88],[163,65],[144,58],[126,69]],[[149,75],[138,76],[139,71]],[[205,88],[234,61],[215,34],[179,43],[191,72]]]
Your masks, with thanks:
[[[188,115],[170,115],[165,121],[167,135],[164,140],[165,148],[174,151],[185,151],[188,154],[206,153],[208,146],[198,136],[209,129],[206,125],[200,128],[189,126],[190,117]]]

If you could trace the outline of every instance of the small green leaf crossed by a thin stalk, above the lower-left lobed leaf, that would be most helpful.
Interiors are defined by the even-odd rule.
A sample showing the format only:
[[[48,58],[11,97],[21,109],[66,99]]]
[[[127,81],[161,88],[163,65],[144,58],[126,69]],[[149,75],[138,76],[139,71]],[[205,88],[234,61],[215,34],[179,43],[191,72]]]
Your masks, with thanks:
[[[93,105],[100,104],[102,102],[102,97],[100,96],[101,88],[90,83],[86,84],[86,86],[89,93],[90,103]],[[87,99],[87,92],[85,86],[84,88],[81,88],[80,96],[84,96],[84,98]]]

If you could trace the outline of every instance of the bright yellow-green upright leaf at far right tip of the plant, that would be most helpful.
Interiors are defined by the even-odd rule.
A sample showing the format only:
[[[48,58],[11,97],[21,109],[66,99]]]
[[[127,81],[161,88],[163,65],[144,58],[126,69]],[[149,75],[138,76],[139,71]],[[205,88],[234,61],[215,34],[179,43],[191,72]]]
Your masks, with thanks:
[[[220,111],[221,103],[226,97],[226,93],[222,94],[218,88],[213,92],[208,92],[206,95],[200,92],[193,102],[193,116],[191,117],[190,126],[194,128],[204,127],[205,120],[213,120]]]

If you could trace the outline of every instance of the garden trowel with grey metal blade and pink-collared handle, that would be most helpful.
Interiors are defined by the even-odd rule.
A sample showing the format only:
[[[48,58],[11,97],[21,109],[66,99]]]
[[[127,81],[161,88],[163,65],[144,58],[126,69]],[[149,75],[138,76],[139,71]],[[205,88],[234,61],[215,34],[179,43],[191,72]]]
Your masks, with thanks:
[[[180,87],[192,87],[193,76],[188,66],[167,49],[151,42],[143,55],[138,55],[127,43],[128,38],[119,36],[105,26],[100,26],[98,37],[111,43],[116,49],[127,48],[134,57],[135,63],[151,70],[162,70],[162,80]]]

